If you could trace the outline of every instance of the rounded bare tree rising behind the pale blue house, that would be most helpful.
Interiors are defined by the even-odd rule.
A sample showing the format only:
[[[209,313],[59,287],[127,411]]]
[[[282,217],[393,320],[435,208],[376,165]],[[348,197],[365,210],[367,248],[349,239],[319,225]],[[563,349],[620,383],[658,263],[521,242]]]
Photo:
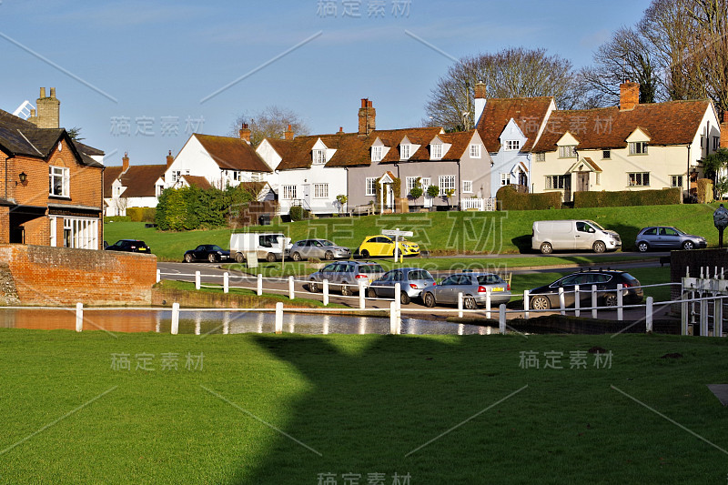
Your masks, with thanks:
[[[569,60],[549,56],[545,49],[515,47],[463,57],[450,66],[430,92],[423,123],[450,130],[473,126],[477,120],[472,99],[478,82],[485,85],[488,97],[554,96],[564,109],[582,102],[581,76]]]

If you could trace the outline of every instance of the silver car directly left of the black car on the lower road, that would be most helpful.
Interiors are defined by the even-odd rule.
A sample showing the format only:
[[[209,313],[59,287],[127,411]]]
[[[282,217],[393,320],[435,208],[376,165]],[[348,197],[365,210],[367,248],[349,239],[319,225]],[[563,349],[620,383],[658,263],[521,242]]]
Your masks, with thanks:
[[[445,278],[439,285],[427,288],[422,294],[425,307],[442,303],[457,305],[458,293],[462,293],[463,307],[478,308],[486,303],[486,291],[490,288],[490,305],[508,303],[511,299],[511,285],[492,273],[456,273]]]

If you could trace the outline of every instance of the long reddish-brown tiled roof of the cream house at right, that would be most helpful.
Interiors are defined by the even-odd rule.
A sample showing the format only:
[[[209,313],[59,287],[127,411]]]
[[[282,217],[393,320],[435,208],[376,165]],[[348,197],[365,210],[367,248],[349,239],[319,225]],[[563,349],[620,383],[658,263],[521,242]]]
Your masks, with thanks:
[[[711,102],[668,101],[634,106],[553,111],[533,152],[554,151],[567,131],[579,140],[578,148],[609,149],[627,147],[627,137],[638,127],[650,137],[650,145],[692,143]]]

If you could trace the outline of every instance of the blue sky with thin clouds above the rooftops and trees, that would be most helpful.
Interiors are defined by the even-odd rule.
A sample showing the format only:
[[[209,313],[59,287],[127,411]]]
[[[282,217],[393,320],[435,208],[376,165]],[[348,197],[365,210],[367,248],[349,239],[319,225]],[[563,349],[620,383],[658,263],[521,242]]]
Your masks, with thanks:
[[[269,105],[332,133],[356,130],[368,97],[379,128],[418,126],[450,57],[524,45],[586,66],[649,3],[0,0],[0,108],[56,87],[61,125],[81,127],[107,165],[125,151],[132,164],[164,163],[192,130],[227,135]]]

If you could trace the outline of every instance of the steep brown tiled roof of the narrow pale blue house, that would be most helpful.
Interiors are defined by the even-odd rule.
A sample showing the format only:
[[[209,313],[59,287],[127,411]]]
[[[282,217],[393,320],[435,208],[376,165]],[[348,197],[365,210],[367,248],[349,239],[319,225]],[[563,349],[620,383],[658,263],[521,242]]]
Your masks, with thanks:
[[[485,108],[478,121],[478,132],[485,149],[495,153],[501,149],[501,133],[511,121],[521,128],[528,138],[521,147],[522,152],[531,151],[539,134],[543,118],[549,112],[552,96],[492,98],[486,100]]]

